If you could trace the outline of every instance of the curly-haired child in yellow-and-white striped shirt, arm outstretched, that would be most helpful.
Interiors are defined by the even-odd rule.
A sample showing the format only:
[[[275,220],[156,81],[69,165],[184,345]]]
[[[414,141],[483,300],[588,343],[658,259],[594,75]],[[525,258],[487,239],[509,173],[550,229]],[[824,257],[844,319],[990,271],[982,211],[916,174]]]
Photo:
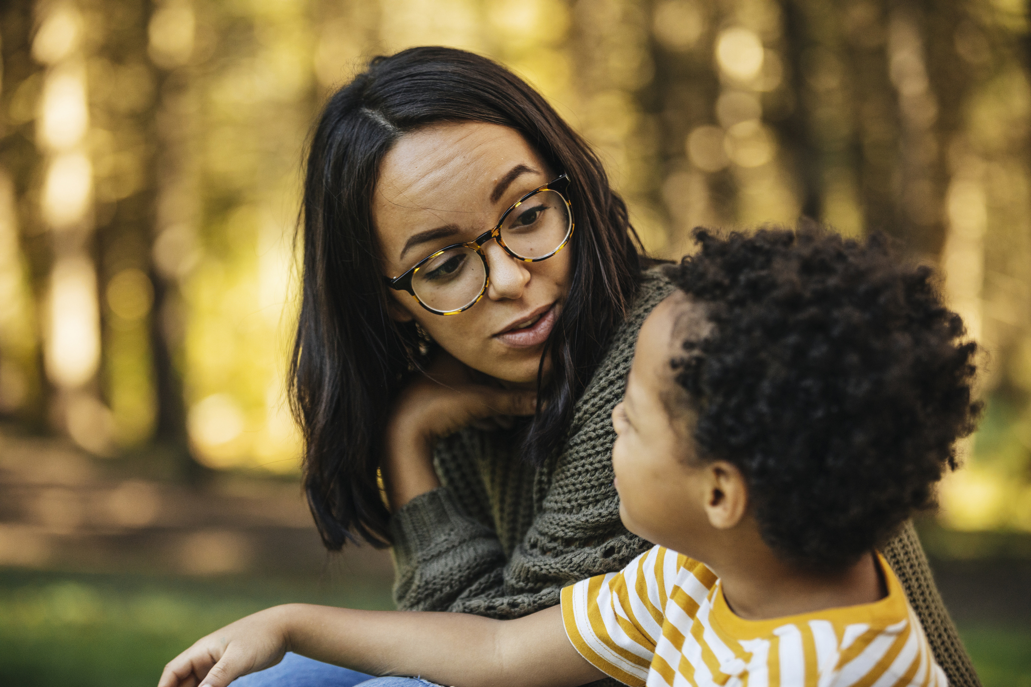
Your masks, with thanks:
[[[874,547],[955,468],[975,345],[882,239],[695,237],[612,412],[620,515],[654,549],[517,620],[272,608],[159,687],[226,687],[286,651],[461,687],[944,685]]]

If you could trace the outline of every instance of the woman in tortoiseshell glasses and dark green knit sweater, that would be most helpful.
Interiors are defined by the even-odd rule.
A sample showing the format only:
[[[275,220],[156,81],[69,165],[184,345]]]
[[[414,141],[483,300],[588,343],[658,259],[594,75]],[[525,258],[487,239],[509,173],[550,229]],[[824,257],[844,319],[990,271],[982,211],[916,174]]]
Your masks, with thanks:
[[[648,547],[609,414],[672,286],[536,92],[461,50],[376,58],[326,105],[303,209],[293,392],[327,548],[393,545],[400,609],[508,618]],[[977,684],[911,526],[885,553],[951,683]],[[302,675],[363,679],[288,655],[237,684]]]

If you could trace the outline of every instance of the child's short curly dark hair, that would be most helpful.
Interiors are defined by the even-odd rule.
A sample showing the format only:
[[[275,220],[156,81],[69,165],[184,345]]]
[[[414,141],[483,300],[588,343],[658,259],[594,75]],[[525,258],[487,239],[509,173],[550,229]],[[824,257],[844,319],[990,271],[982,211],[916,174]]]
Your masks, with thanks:
[[[667,268],[714,325],[672,362],[703,460],[741,470],[763,540],[840,569],[884,543],[956,468],[976,344],[926,266],[820,227],[719,237]]]

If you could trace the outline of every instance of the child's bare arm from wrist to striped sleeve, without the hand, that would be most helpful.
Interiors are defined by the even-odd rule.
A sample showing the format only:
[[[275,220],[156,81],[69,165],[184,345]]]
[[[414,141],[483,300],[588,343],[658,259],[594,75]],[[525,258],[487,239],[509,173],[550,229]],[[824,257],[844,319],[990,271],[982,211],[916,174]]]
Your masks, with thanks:
[[[291,651],[371,675],[462,687],[560,687],[603,677],[569,643],[559,607],[509,621],[303,604],[277,610]]]

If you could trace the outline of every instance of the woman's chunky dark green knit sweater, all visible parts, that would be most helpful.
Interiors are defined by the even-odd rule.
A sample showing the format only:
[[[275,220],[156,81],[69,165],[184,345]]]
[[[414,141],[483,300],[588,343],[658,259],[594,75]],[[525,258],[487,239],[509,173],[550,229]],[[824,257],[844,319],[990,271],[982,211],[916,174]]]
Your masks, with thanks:
[[[399,609],[517,618],[555,606],[562,587],[621,570],[651,547],[620,521],[610,415],[641,323],[674,288],[659,270],[645,272],[632,312],[576,403],[565,444],[541,468],[522,459],[512,433],[467,428],[439,442],[442,486],[391,521]],[[950,685],[979,685],[912,525],[884,553]]]

